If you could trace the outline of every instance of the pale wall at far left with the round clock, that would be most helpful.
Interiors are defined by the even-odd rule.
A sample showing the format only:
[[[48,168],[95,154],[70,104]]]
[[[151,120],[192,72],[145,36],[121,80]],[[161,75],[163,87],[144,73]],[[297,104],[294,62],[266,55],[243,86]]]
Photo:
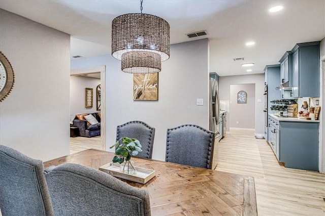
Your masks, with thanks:
[[[70,35],[2,9],[0,20],[15,73],[0,103],[0,143],[41,160],[69,154]]]

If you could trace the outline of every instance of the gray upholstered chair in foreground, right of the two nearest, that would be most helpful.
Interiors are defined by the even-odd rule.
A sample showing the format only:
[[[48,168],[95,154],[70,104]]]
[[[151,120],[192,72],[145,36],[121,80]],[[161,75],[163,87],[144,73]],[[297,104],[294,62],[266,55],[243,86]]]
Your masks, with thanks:
[[[55,215],[150,215],[147,190],[103,171],[64,163],[45,172]]]

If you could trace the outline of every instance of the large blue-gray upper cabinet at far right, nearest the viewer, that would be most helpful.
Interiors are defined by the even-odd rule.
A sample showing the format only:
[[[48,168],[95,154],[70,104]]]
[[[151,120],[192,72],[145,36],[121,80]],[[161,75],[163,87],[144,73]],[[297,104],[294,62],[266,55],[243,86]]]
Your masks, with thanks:
[[[297,44],[293,52],[293,94],[299,97],[319,97],[320,41]]]

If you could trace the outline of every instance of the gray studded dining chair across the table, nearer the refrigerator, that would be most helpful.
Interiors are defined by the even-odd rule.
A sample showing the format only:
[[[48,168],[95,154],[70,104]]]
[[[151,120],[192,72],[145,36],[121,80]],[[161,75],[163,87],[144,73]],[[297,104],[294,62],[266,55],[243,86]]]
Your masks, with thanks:
[[[198,125],[167,129],[166,161],[212,168],[215,133]]]

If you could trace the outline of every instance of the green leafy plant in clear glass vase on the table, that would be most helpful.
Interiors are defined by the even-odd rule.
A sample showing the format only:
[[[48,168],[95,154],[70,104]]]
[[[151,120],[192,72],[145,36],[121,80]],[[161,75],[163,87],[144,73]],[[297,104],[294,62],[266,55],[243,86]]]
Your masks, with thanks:
[[[120,142],[122,141],[122,142]],[[135,174],[137,171],[137,165],[131,156],[136,156],[142,151],[142,146],[139,140],[135,138],[122,137],[113,146],[115,147],[115,156],[112,161],[120,164],[120,169],[125,174]]]

